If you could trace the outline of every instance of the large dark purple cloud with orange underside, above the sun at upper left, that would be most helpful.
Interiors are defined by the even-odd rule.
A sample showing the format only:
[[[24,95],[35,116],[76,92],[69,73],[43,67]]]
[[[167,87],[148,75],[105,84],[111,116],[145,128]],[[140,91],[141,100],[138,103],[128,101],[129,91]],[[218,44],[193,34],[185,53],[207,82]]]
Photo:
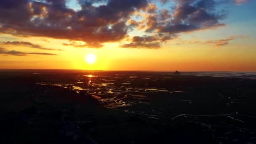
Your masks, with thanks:
[[[82,9],[67,8],[66,0],[8,0],[0,2],[0,32],[84,41],[88,45],[116,42],[127,35],[126,21],[147,0],[79,0]]]

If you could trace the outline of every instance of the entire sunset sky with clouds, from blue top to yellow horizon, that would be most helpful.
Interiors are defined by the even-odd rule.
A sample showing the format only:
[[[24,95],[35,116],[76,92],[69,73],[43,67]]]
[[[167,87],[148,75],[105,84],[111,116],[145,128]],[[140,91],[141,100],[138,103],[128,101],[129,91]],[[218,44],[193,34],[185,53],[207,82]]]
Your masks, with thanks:
[[[0,69],[256,72],[255,7],[256,0],[1,0]]]

